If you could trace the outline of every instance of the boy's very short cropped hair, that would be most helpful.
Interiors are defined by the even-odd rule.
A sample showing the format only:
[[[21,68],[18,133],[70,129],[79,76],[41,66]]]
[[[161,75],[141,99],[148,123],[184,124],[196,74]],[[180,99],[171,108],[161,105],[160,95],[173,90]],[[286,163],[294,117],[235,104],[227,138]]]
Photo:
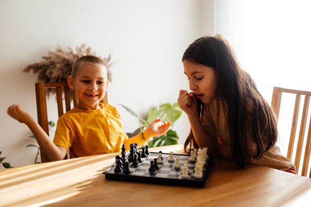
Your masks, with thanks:
[[[75,78],[77,76],[78,70],[85,64],[94,64],[96,66],[104,66],[107,69],[107,79],[110,81],[111,74],[107,66],[107,63],[103,61],[102,59],[96,56],[92,56],[92,55],[86,55],[86,56],[82,56],[78,58],[73,64],[71,76]]]

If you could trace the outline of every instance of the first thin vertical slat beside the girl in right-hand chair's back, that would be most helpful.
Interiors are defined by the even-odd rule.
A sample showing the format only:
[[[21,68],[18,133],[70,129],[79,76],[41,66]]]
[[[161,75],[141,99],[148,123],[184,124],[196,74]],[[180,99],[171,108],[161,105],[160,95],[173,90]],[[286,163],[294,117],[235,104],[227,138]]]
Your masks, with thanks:
[[[296,101],[295,101],[293,122],[292,122],[292,130],[291,130],[291,135],[290,135],[290,142],[289,142],[288,150],[287,150],[287,158],[289,158],[289,159],[292,159],[292,156],[293,156],[294,143],[295,143],[296,131],[297,131],[298,116],[299,116],[300,100],[301,100],[301,95],[297,94],[296,95]]]

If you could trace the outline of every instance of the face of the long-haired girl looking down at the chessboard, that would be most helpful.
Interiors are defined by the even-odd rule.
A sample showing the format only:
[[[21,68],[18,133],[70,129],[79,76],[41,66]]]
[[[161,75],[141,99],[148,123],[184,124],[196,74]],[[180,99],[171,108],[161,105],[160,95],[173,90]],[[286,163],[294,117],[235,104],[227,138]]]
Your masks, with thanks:
[[[184,60],[184,73],[189,80],[189,89],[196,94],[203,103],[210,103],[216,97],[217,77],[215,69]]]

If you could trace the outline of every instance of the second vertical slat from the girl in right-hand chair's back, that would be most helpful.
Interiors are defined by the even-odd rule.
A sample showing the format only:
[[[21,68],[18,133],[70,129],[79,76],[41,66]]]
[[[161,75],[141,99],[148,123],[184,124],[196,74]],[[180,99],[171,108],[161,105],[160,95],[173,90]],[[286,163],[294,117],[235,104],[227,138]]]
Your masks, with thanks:
[[[305,103],[304,103],[303,115],[301,119],[300,132],[299,132],[297,151],[296,151],[296,157],[295,157],[295,165],[296,165],[297,171],[299,170],[301,153],[302,153],[303,144],[304,144],[304,137],[305,137],[305,131],[306,131],[307,118],[308,118],[307,115],[309,111],[309,103],[310,103],[310,96],[305,96]]]

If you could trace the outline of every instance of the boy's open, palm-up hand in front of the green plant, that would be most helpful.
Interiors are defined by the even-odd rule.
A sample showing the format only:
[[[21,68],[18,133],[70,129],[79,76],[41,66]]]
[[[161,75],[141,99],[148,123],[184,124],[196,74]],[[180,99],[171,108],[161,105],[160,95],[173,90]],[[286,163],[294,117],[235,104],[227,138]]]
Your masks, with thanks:
[[[151,137],[158,137],[165,134],[169,127],[172,125],[170,121],[165,121],[164,124],[158,125],[160,121],[161,119],[156,119],[155,121],[151,122],[147,129],[144,131],[144,136],[147,140],[149,140]]]

